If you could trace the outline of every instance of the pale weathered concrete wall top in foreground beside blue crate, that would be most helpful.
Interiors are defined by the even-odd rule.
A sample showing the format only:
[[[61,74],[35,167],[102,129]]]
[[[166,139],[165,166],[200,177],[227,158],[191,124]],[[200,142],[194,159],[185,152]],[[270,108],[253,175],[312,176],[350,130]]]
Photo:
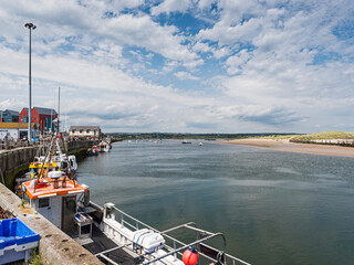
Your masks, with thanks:
[[[31,208],[23,208],[20,204],[20,198],[0,183],[0,206],[11,212],[34,232],[40,234],[39,252],[44,264],[102,264],[97,257],[77,244],[41,214],[35,213]]]

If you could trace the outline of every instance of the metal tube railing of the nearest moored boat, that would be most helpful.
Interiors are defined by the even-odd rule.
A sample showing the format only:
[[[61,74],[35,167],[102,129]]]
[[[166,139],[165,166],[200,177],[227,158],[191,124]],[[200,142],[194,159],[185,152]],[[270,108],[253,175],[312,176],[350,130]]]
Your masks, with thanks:
[[[189,247],[196,247],[199,252],[199,255],[207,258],[209,261],[209,263],[210,262],[212,262],[212,263],[221,262],[221,264],[225,264],[225,265],[226,264],[250,265],[249,263],[226,253],[226,237],[222,233],[212,233],[212,232],[209,232],[206,230],[198,229],[196,223],[194,223],[194,222],[180,224],[180,225],[174,226],[174,227],[165,230],[165,231],[158,231],[158,230],[154,229],[153,226],[150,226],[150,225],[133,218],[132,215],[125,213],[124,211],[119,210],[116,206],[113,206],[113,209],[116,211],[116,213],[119,214],[119,216],[116,215],[116,221],[119,222],[122,225],[128,226],[134,231],[137,231],[140,229],[152,230],[156,233],[164,235],[164,237],[168,239],[169,243],[173,245],[173,246],[170,246],[169,244],[166,243],[165,244],[165,250],[167,251],[166,255],[163,255],[163,256],[157,257],[153,261],[148,261],[146,263],[143,263],[144,265],[153,264],[153,263],[155,263],[164,257],[170,256],[170,255],[173,255],[175,258],[177,258],[177,255],[183,256],[183,251],[185,251]],[[187,244],[187,243],[184,243],[184,242],[167,234],[167,233],[170,233],[170,232],[179,230],[179,229],[187,229],[187,230],[195,231],[197,234],[197,240],[195,242]],[[212,246],[204,243],[205,241],[211,240],[214,237],[221,237],[222,239],[223,251],[219,251],[216,247],[212,247]],[[205,253],[202,251],[205,251]],[[210,255],[210,253],[212,253],[212,255]]]

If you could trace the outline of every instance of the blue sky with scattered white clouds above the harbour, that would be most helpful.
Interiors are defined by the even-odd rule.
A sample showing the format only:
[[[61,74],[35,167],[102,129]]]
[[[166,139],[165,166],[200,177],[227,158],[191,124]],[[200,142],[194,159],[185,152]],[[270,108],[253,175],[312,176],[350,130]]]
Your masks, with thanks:
[[[0,109],[104,131],[354,131],[353,0],[1,0]]]

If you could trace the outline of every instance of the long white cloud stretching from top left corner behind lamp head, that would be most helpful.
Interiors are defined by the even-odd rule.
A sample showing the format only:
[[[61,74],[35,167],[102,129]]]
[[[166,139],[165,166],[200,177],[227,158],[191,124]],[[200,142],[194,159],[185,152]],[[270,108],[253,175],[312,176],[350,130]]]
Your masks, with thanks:
[[[132,7],[138,4],[139,1]],[[121,13],[112,18],[104,18],[104,13],[110,11],[110,6],[104,6],[104,2],[100,1],[90,1],[85,6],[79,6],[73,1],[33,1],[32,4],[23,1],[23,9],[19,9],[19,6],[21,4],[13,1],[2,1],[0,7],[7,11],[7,15],[1,22],[4,28],[15,29],[15,26],[22,26],[31,18],[35,18],[31,20],[38,25],[33,32],[34,42],[43,39],[45,42],[51,42],[52,45],[55,43],[60,45],[65,42],[64,38],[79,35],[75,47],[90,51],[98,39],[105,38],[115,42],[117,46],[136,45],[170,60],[189,65],[199,64],[197,63],[198,56],[181,44],[185,38],[177,34],[176,26],[159,25],[143,13]],[[123,4],[122,7],[131,6]],[[24,21],[23,18],[28,19]],[[19,32],[18,29],[4,32],[7,39],[15,40],[14,32]],[[21,33],[27,31],[23,28]],[[23,34],[21,38],[24,36]]]

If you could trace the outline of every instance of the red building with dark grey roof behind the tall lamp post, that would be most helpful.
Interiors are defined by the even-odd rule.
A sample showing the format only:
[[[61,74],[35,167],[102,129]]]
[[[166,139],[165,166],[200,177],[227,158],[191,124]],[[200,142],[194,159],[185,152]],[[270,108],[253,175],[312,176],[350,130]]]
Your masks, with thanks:
[[[29,108],[23,108],[19,115],[20,123],[28,123],[29,121]],[[41,107],[33,107],[31,112],[31,121],[37,125],[39,130],[49,131],[54,130],[55,125],[53,120],[58,117],[55,109],[52,108],[41,108]]]

